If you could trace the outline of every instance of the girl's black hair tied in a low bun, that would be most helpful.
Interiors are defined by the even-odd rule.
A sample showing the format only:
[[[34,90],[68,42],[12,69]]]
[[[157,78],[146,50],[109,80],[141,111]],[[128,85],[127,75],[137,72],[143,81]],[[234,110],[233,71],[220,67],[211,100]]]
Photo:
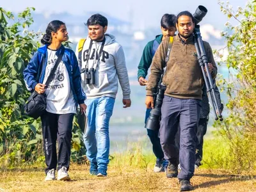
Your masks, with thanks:
[[[41,43],[44,45],[50,45],[52,43],[51,33],[52,32],[56,33],[60,29],[61,25],[65,25],[65,23],[60,20],[52,20],[51,22],[49,22],[45,30],[45,34],[41,39]]]

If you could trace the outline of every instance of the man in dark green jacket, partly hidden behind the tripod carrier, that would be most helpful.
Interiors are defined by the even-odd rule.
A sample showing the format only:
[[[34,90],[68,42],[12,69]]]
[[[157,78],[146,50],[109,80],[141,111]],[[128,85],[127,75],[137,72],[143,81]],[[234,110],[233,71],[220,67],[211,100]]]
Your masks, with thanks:
[[[141,56],[140,64],[138,66],[138,81],[141,86],[147,85],[147,80],[145,77],[148,74],[148,68],[151,65],[152,58],[157,50],[159,44],[161,44],[162,40],[168,36],[174,36],[176,31],[175,27],[176,16],[172,14],[164,14],[161,19],[161,31],[162,35],[157,35],[155,40],[152,40],[147,43],[143,54]],[[147,109],[145,115],[145,123],[150,114],[151,109]],[[164,160],[164,153],[161,147],[161,143],[158,137],[159,131],[153,131],[147,129],[148,137],[152,143],[153,152],[156,156],[156,165],[154,167],[154,172],[163,172],[164,168],[167,166],[168,162]]]

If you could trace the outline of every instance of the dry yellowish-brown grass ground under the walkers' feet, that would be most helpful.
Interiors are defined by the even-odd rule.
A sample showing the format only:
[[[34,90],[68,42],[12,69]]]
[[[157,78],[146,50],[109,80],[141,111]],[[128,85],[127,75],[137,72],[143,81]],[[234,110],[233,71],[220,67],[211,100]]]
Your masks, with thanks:
[[[148,168],[110,164],[108,177],[88,173],[88,166],[72,164],[69,182],[44,181],[43,168],[6,170],[0,173],[0,191],[179,191],[177,179],[167,179],[164,173]],[[195,191],[256,191],[256,177],[230,175],[218,170],[198,169],[191,179]]]

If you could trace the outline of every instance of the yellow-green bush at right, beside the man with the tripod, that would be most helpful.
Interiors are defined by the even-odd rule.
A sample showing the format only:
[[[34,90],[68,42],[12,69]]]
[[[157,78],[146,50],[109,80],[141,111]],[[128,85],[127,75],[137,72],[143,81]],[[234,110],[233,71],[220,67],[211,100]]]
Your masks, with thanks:
[[[256,1],[249,1],[246,8],[232,10],[230,4],[219,3],[228,20],[236,19],[233,26],[226,23],[227,31],[221,35],[227,41],[227,57],[218,52],[221,63],[229,70],[229,81],[221,80],[227,92],[229,109],[224,124],[216,124],[221,136],[228,141],[225,168],[241,173],[256,168]]]

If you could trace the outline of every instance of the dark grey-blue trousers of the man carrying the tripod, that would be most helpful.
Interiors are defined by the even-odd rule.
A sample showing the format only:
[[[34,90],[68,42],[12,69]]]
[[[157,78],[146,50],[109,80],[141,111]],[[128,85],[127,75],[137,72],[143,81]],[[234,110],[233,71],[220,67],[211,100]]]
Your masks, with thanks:
[[[159,138],[164,159],[180,163],[179,179],[191,179],[195,172],[196,129],[200,118],[201,100],[177,99],[164,95],[161,108]],[[180,125],[180,149],[175,134]]]

